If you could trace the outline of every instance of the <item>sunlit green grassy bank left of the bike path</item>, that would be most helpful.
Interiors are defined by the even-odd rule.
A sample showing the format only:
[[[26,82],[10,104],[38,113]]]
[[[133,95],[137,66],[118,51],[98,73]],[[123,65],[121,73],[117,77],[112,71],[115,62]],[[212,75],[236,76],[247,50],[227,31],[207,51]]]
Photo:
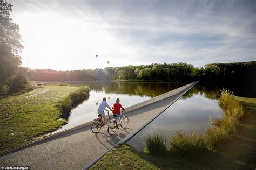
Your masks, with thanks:
[[[0,99],[0,153],[28,144],[40,134],[66,123],[67,113],[81,97],[89,95],[85,87],[45,85],[29,93]],[[63,102],[66,101],[66,102]]]

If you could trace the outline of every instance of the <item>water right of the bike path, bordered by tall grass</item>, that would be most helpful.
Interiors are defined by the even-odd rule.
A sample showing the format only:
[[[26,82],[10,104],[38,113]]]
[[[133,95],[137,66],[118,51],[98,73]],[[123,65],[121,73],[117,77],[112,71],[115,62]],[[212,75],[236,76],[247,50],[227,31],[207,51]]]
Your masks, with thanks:
[[[152,134],[160,134],[169,142],[172,134],[178,130],[184,133],[204,132],[209,125],[208,117],[212,117],[212,121],[215,121],[223,114],[218,104],[219,95],[218,88],[202,86],[199,83],[137,133],[127,144],[142,151],[146,146],[146,137]]]

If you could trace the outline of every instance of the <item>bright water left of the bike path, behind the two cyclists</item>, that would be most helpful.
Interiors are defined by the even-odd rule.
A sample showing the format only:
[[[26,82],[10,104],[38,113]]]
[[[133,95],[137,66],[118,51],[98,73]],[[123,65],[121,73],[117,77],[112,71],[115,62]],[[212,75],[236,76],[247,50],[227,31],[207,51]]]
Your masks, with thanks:
[[[120,98],[124,108],[158,96],[188,82],[66,82],[70,84],[87,85],[90,87],[90,97],[73,109],[68,118],[68,124],[58,129],[59,132],[77,125],[92,121],[97,117],[97,109],[103,97],[107,98],[110,107]]]

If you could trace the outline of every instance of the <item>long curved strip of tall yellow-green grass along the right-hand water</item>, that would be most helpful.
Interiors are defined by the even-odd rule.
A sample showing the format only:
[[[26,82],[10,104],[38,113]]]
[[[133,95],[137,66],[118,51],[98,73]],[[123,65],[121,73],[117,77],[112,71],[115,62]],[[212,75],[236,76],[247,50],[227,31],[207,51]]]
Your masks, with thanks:
[[[177,132],[170,140],[170,151],[183,155],[215,152],[219,143],[232,139],[237,133],[244,110],[239,101],[235,100],[233,94],[226,89],[221,90],[219,105],[224,111],[224,116],[214,123],[209,118],[210,126],[205,134],[191,133],[187,136]]]

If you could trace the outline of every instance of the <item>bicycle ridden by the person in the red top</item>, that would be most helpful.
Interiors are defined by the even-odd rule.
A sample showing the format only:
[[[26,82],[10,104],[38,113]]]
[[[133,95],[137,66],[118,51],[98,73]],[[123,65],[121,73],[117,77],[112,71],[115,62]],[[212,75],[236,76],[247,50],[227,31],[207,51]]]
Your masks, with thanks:
[[[129,118],[124,115],[123,110],[122,110],[122,117],[121,118],[119,117],[119,120],[113,119],[110,121],[109,127],[107,127],[107,133],[109,133],[110,135],[114,134],[114,132],[116,132],[116,130],[119,129],[118,122],[120,122],[120,126],[122,128],[126,128],[127,124],[129,123]]]

